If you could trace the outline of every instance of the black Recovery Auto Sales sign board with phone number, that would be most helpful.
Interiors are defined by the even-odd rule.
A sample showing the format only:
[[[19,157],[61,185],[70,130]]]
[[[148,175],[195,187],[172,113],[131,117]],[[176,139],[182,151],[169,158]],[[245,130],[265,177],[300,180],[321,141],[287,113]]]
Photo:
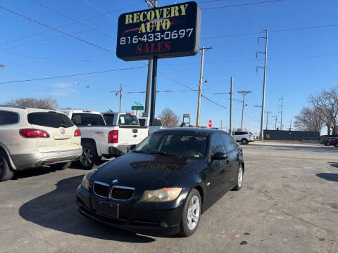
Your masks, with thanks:
[[[201,9],[189,1],[118,18],[116,55],[123,60],[194,56],[199,52]]]

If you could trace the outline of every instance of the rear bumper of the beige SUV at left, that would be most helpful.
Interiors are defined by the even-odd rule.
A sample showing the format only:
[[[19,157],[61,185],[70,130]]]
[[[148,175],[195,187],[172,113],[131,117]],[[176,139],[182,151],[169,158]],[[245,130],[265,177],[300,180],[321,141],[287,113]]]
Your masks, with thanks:
[[[59,150],[51,152],[39,152],[30,154],[11,155],[15,169],[29,169],[45,164],[75,161],[82,155],[82,148]]]

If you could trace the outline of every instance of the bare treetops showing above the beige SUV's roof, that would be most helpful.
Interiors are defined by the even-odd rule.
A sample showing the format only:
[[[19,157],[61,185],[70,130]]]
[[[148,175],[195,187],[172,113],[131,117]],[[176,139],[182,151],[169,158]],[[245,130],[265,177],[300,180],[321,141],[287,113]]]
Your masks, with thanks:
[[[6,102],[5,105],[19,105],[25,108],[58,108],[58,102],[56,102],[56,100],[53,98],[17,98]]]

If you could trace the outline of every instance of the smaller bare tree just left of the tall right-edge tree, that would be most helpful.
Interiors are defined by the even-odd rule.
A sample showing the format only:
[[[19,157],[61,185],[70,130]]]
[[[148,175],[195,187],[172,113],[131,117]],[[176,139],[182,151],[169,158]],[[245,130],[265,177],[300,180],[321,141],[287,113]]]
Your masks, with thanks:
[[[323,128],[323,115],[317,109],[303,108],[295,118],[294,126],[301,131],[321,131]]]

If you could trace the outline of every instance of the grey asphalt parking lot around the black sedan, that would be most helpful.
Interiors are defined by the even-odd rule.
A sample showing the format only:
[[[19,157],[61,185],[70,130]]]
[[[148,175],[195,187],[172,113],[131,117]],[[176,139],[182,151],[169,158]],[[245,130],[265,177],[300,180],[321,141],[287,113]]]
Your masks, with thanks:
[[[244,186],[189,238],[135,235],[86,219],[77,167],[22,171],[0,183],[0,252],[338,252],[338,148],[244,146]]]

